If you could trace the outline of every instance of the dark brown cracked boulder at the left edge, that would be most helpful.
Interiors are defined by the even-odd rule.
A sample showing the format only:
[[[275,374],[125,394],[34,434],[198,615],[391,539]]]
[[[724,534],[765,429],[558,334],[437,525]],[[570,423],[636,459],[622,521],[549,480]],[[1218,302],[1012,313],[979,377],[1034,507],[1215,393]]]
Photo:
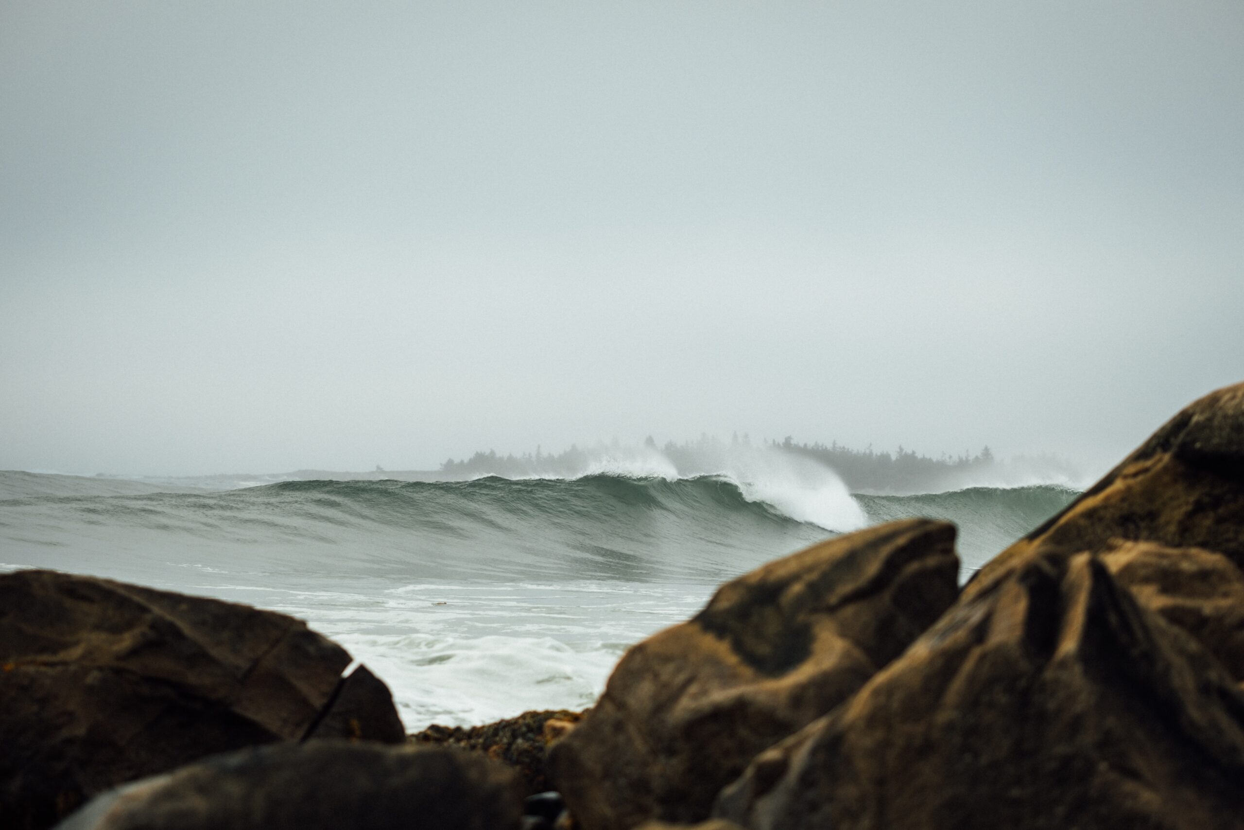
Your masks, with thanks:
[[[383,683],[362,668],[342,681],[350,662],[280,613],[2,575],[0,825],[47,828],[96,793],[241,747],[351,729],[403,740]]]

